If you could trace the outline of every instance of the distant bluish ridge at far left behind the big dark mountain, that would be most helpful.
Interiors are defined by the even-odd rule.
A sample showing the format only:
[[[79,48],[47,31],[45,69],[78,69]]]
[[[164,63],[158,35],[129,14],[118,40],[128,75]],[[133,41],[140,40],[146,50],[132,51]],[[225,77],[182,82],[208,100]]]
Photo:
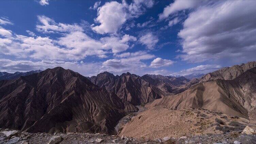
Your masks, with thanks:
[[[27,75],[31,75],[39,72],[41,72],[41,70],[29,71],[29,72],[15,72],[15,73],[0,72],[0,80],[17,79],[20,76],[27,76]]]

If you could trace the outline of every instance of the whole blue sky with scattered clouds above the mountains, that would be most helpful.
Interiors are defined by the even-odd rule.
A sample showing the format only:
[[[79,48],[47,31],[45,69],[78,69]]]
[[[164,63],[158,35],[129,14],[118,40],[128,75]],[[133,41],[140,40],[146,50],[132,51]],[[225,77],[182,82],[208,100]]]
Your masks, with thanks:
[[[208,73],[256,60],[256,2],[0,1],[0,71]]]

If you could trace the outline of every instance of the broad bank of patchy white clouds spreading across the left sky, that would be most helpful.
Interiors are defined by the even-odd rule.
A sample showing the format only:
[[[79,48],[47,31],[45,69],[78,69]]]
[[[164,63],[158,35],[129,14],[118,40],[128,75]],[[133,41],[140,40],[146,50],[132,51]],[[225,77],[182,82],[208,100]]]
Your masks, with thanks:
[[[136,37],[123,35],[122,37],[110,36],[94,39],[86,35],[82,29],[74,29],[70,24],[56,23],[53,19],[46,19],[44,32],[63,32],[61,37],[35,36],[27,31],[30,36],[12,34],[12,31],[0,27],[0,53],[12,55],[17,58],[33,58],[47,60],[81,60],[86,56],[108,57],[108,53],[119,53],[127,50]],[[51,23],[47,25],[47,23]]]

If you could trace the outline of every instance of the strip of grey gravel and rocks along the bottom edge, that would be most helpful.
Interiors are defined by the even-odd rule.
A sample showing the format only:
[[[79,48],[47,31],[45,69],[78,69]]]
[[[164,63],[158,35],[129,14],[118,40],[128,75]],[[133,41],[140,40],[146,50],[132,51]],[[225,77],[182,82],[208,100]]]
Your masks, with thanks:
[[[256,135],[252,129],[205,134],[202,136],[162,139],[137,139],[109,136],[100,133],[28,133],[18,130],[0,129],[0,144],[254,144]],[[246,134],[249,133],[249,134]]]

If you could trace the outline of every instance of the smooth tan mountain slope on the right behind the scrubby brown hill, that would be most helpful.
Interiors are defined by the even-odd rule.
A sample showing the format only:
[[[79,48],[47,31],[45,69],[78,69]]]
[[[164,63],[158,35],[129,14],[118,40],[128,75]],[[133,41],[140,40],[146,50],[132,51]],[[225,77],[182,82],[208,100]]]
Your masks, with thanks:
[[[193,85],[174,96],[166,96],[147,105],[169,109],[205,108],[243,118],[256,118],[256,68],[233,80],[217,79]]]

